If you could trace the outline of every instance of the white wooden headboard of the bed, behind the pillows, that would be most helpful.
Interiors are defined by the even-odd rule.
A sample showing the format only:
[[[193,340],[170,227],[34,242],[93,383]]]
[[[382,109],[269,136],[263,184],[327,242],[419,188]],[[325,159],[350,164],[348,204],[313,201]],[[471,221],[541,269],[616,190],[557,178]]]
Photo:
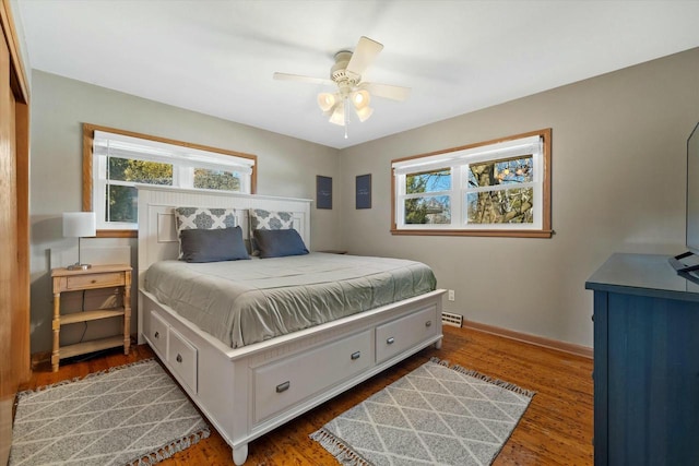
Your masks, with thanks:
[[[177,207],[235,208],[244,239],[248,239],[248,210],[292,212],[294,228],[310,249],[309,199],[275,198],[216,191],[173,189],[164,187],[139,188],[139,287],[152,263],[178,255],[175,213]]]

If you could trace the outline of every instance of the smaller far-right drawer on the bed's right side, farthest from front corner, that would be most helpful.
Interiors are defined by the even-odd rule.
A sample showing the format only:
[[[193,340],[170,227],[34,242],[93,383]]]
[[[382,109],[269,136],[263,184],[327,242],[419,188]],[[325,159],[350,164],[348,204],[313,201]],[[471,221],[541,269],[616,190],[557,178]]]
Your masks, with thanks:
[[[376,361],[383,362],[438,332],[437,308],[396,319],[376,327]]]

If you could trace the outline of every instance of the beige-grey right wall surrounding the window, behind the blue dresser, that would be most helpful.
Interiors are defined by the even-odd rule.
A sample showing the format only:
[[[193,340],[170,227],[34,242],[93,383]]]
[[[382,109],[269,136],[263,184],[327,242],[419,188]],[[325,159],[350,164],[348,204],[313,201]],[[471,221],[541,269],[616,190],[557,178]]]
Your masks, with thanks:
[[[467,320],[592,346],[585,279],[616,251],[684,251],[686,141],[699,121],[699,49],[342,152],[343,244],[416,259]],[[369,121],[370,123],[370,121]],[[391,236],[391,159],[553,129],[552,239]],[[372,174],[371,210],[355,210]]]

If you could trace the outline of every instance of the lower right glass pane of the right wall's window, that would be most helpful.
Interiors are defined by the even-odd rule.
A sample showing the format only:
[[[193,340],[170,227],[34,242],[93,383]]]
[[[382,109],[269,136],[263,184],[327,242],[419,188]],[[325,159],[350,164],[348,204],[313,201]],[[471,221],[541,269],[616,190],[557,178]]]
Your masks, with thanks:
[[[514,188],[466,194],[470,224],[533,224],[534,189]]]

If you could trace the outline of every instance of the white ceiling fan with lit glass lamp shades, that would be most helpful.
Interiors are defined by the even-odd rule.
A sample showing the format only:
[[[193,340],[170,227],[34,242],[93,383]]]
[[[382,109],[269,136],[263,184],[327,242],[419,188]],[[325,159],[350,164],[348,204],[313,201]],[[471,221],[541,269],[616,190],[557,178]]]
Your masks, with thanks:
[[[374,63],[382,49],[383,45],[362,36],[354,52],[340,50],[335,53],[335,64],[330,69],[330,80],[288,73],[274,73],[273,77],[283,81],[335,85],[337,87],[335,92],[318,94],[318,106],[329,117],[331,123],[345,127],[346,139],[351,107],[354,108],[359,121],[366,121],[374,113],[374,109],[369,107],[371,96],[405,100],[410,95],[410,87],[362,81],[362,73]]]

